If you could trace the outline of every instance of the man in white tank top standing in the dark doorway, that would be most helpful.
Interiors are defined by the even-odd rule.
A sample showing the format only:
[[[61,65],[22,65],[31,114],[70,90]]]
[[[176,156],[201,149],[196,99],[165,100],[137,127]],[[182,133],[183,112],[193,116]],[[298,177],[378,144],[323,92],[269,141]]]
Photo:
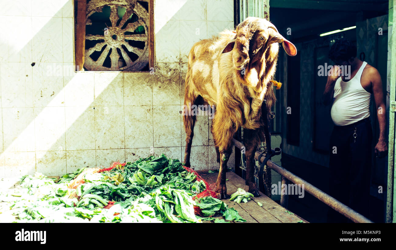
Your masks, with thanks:
[[[384,157],[388,150],[381,76],[373,66],[356,58],[356,46],[345,38],[331,46],[329,59],[338,65],[327,77],[323,93],[324,104],[332,103],[331,119],[335,125],[330,137],[329,195],[367,217],[370,214],[372,94],[379,123],[379,139],[374,151],[377,157]],[[347,220],[330,208],[328,222]]]

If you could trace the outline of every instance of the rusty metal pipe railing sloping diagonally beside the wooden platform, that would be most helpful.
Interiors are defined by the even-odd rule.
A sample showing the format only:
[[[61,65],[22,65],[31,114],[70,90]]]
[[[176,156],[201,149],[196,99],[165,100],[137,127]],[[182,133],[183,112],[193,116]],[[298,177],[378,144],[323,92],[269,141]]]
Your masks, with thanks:
[[[240,150],[244,149],[244,146],[242,145],[241,142],[238,140],[234,139],[234,145],[239,148]],[[261,157],[259,159],[259,156],[262,152],[256,152],[254,159],[259,161],[259,163],[262,163],[265,157]],[[303,180],[302,178],[296,176],[292,172],[284,169],[283,167],[279,166],[278,164],[274,163],[271,160],[267,161],[267,167],[269,169],[274,170],[278,174],[282,176],[282,184],[286,182],[286,179],[293,182],[294,184],[297,185],[304,185],[304,190],[313,195],[316,199],[322,201],[324,204],[327,206],[333,208],[335,211],[339,212],[346,218],[352,220],[353,222],[358,222],[358,223],[373,223],[371,220],[367,219],[363,215],[359,214],[352,208],[344,205],[343,203],[337,201],[327,193],[323,192],[322,190],[318,189],[317,187],[313,186],[312,184],[308,183],[307,181]],[[283,194],[281,194],[281,204],[287,203],[287,197],[285,197]]]

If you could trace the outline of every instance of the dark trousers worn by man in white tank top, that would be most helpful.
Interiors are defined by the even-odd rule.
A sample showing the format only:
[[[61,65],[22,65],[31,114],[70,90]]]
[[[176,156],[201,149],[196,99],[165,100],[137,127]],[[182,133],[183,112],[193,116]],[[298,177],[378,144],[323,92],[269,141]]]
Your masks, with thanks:
[[[366,217],[369,214],[372,140],[369,117],[350,125],[334,126],[330,138],[329,195]],[[351,221],[329,208],[327,222]]]

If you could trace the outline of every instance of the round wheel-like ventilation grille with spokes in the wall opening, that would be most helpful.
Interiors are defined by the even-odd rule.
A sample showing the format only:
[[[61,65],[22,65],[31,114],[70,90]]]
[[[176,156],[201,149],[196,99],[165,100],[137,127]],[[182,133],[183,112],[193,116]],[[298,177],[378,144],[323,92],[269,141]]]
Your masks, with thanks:
[[[90,0],[87,3],[84,62],[87,70],[137,71],[147,65],[147,2],[148,0]],[[102,21],[100,25],[101,21],[97,20],[99,15],[110,21]],[[104,28],[95,32],[93,25],[98,24]]]

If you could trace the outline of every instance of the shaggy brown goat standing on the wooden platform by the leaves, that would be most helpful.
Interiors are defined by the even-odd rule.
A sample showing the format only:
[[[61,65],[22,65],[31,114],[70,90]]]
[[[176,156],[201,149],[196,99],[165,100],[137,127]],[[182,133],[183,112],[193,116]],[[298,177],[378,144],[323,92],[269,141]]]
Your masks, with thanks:
[[[270,80],[275,74],[278,43],[281,42],[288,55],[297,54],[296,47],[279,34],[272,23],[248,17],[236,30],[226,29],[217,37],[195,43],[188,55],[183,108],[186,131],[184,163],[190,167],[196,121],[196,116],[190,115],[190,111],[192,105],[203,99],[215,106],[211,133],[217,162],[220,163],[215,189],[219,199],[225,199],[227,195],[225,183],[232,138],[242,126],[246,149],[246,185],[250,193],[260,195],[254,182],[253,157],[255,147],[265,138],[263,124],[264,119],[268,119],[267,111],[276,101]]]

